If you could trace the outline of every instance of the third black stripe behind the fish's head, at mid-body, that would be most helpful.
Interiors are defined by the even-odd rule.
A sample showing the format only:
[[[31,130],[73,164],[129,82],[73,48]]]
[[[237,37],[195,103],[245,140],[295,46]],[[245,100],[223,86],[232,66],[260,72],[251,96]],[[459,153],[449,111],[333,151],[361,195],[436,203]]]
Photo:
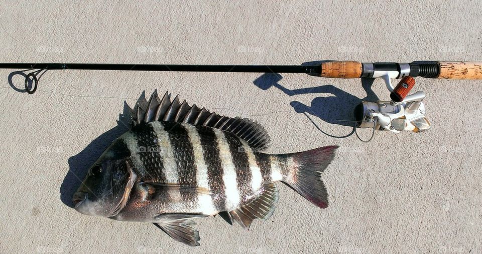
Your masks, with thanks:
[[[214,207],[218,211],[224,210],[226,194],[224,191],[224,181],[222,180],[223,169],[216,133],[210,127],[196,125],[196,130],[201,141],[204,162],[207,166],[207,177],[209,189],[213,193],[217,193],[218,198],[212,200]]]

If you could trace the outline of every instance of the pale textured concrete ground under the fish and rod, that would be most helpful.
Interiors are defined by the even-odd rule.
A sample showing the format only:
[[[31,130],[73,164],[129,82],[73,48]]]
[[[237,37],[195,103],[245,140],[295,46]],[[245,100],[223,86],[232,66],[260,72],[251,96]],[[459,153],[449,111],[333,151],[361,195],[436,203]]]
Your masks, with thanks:
[[[481,61],[481,13],[479,1],[2,1],[0,62]],[[432,129],[363,143],[339,120],[361,99],[388,99],[381,80],[367,92],[303,74],[49,71],[29,95],[9,85],[13,71],[0,70],[0,252],[482,252],[480,81],[417,79]],[[78,179],[125,130],[124,103],[154,89],[255,119],[271,153],[339,145],[323,176],[330,206],[280,183],[269,221],[247,231],[198,219],[196,248],[152,224],[76,212]]]

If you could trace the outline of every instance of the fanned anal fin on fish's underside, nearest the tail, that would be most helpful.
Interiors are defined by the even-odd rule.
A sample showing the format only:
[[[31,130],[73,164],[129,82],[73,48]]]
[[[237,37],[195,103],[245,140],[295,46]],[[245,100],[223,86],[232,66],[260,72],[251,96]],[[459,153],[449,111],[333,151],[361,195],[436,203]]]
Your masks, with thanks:
[[[261,220],[270,218],[276,208],[278,189],[274,183],[264,185],[260,192],[260,195],[250,203],[229,211],[231,217],[247,229],[256,218]]]

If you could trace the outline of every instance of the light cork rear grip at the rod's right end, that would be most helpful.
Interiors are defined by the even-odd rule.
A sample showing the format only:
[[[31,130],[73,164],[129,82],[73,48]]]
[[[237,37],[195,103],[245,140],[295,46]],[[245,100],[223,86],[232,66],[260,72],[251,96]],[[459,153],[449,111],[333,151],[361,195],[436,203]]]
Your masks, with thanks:
[[[481,62],[439,62],[439,79],[482,79]]]

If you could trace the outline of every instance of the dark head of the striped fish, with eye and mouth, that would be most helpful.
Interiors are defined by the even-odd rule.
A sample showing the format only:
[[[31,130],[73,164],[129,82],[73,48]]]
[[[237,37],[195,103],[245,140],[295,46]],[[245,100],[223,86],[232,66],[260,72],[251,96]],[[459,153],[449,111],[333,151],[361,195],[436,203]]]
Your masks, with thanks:
[[[135,174],[129,151],[119,143],[114,141],[89,168],[72,199],[78,212],[111,217],[125,206]]]

